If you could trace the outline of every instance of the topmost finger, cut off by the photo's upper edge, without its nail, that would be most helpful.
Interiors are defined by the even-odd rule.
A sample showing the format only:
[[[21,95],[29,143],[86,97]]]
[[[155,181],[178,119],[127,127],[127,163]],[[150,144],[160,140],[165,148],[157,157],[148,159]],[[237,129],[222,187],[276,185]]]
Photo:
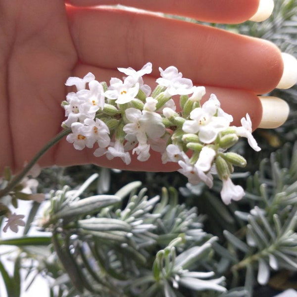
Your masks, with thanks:
[[[182,15],[205,22],[236,24],[248,20],[259,7],[259,0],[66,0],[75,6],[122,4],[136,8]]]

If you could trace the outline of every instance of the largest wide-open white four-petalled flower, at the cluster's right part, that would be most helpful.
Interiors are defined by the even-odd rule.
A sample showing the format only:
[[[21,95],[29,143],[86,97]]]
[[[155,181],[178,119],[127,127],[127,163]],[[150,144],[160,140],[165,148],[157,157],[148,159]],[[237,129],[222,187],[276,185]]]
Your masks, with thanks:
[[[192,120],[183,124],[183,131],[186,133],[198,133],[199,139],[205,144],[215,141],[219,132],[230,125],[230,121],[223,116],[214,116],[217,112],[215,102],[206,101],[202,107],[193,109],[190,113]]]

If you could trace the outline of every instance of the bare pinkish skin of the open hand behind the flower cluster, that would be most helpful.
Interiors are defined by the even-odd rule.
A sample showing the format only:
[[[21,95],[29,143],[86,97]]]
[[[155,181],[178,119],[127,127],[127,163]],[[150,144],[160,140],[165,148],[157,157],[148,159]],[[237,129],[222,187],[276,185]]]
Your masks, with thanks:
[[[248,112],[253,128],[261,119],[257,95],[273,90],[283,73],[273,44],[224,31],[145,13],[84,7],[112,0],[0,0],[0,175],[4,166],[18,172],[25,161],[61,131],[60,103],[69,76],[93,72],[99,81],[122,77],[117,67],[139,70],[148,61],[153,87],[158,67],[176,66],[195,85],[215,93],[235,125]],[[150,3],[152,2],[152,3]],[[173,3],[174,2],[174,3]],[[238,23],[251,17],[258,0],[122,0],[121,4],[199,20]],[[157,3],[157,4],[156,4]],[[170,6],[170,7],[167,7]],[[207,96],[205,97],[207,99]],[[95,163],[128,170],[170,171],[158,154],[130,165],[96,158],[92,149],[75,150],[62,140],[41,166]]]

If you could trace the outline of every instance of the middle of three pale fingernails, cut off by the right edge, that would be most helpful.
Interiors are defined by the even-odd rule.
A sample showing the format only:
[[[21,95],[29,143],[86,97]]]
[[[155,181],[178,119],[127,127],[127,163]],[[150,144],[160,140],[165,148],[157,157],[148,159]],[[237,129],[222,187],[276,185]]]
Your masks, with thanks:
[[[284,62],[283,76],[276,86],[278,89],[289,89],[297,83],[297,59],[286,52],[282,52]]]

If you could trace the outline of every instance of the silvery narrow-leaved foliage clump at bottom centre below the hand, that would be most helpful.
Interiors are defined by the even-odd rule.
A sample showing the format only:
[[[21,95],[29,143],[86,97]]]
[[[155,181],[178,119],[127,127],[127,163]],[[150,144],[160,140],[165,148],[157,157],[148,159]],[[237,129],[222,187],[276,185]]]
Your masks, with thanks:
[[[53,234],[55,253],[76,289],[73,294],[225,292],[224,277],[211,270],[217,238],[201,229],[197,209],[179,204],[174,189],[149,199],[146,189],[136,194],[139,186],[133,182],[115,195],[83,199],[77,197],[80,190],[67,187],[52,194],[43,226]]]

